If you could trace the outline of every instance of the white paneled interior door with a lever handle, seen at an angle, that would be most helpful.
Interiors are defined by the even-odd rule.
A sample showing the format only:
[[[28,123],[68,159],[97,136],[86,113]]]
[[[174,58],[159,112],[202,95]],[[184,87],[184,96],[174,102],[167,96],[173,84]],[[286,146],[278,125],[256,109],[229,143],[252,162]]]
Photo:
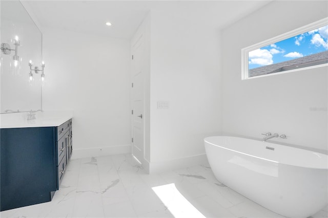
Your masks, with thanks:
[[[144,37],[132,45],[132,155],[144,161]]]

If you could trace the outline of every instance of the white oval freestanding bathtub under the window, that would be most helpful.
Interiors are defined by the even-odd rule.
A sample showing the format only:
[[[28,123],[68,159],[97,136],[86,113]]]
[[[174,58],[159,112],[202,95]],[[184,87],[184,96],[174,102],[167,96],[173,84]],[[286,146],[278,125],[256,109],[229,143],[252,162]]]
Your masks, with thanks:
[[[217,180],[288,217],[308,217],[328,202],[327,155],[252,139],[204,139]]]

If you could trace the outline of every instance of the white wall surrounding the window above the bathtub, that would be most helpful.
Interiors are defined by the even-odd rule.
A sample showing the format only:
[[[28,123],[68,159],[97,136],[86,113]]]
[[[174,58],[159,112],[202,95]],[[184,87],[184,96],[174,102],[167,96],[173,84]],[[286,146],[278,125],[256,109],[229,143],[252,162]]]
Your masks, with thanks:
[[[241,49],[328,16],[326,1],[274,1],[222,31],[223,132],[327,150],[327,67],[241,80]]]

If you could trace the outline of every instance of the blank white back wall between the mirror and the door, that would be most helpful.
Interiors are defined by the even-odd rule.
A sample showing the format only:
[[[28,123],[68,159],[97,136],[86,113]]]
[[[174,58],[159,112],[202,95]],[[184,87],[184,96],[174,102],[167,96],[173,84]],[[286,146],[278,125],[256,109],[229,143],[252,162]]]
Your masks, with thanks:
[[[130,42],[44,29],[45,111],[74,111],[73,157],[129,152]]]

